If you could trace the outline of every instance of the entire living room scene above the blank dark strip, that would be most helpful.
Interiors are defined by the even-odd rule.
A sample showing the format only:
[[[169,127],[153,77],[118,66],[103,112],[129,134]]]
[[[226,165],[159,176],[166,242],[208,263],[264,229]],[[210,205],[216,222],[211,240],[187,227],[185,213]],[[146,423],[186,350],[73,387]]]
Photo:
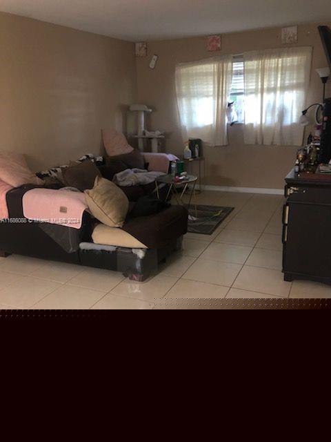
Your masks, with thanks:
[[[1,309],[331,298],[328,3],[1,0]]]

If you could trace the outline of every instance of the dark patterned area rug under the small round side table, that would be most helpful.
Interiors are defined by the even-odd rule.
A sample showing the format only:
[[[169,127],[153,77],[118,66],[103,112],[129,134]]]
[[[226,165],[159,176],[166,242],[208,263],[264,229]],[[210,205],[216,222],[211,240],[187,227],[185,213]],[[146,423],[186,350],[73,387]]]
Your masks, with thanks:
[[[185,205],[186,209],[188,206]],[[191,204],[188,217],[188,232],[211,235],[219,224],[230,215],[234,207],[195,206]]]

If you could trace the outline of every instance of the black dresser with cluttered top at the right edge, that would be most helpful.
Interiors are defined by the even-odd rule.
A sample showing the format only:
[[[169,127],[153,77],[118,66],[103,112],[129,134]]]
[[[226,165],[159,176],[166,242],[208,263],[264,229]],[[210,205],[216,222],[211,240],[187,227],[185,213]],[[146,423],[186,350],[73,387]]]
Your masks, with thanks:
[[[284,279],[331,284],[331,176],[292,170],[285,182]]]

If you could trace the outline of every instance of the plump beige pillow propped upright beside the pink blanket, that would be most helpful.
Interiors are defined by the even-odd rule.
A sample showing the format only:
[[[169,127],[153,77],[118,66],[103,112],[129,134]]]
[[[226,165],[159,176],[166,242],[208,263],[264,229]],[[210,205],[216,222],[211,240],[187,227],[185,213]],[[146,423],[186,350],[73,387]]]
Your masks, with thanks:
[[[92,215],[110,227],[122,227],[129,210],[126,194],[113,182],[97,177],[94,187],[85,192],[86,204]]]

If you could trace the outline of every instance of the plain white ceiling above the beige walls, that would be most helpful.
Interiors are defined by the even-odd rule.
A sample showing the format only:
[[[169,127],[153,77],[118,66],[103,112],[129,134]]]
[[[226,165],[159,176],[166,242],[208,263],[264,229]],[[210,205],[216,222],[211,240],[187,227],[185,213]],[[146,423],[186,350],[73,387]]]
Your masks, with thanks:
[[[331,21],[330,0],[0,0],[0,10],[130,41]]]

